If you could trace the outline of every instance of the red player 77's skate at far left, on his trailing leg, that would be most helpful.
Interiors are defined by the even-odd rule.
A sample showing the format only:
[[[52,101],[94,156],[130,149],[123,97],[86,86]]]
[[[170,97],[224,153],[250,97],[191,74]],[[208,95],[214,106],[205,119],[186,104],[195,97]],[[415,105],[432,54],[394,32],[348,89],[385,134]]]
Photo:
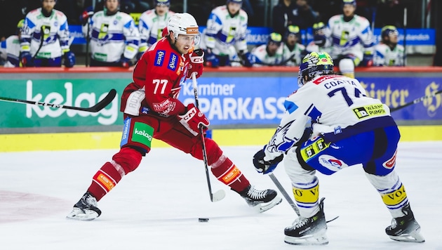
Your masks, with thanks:
[[[83,197],[74,205],[74,209],[66,218],[77,221],[92,221],[100,216],[101,211],[97,207],[97,199],[86,192]]]

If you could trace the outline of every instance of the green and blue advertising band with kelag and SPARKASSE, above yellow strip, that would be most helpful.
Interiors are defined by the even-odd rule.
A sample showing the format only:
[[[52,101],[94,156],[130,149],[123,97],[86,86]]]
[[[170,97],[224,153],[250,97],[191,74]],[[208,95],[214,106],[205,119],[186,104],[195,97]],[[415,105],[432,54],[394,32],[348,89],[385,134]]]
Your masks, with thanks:
[[[55,73],[13,74],[11,79],[8,75],[4,74],[0,80],[0,96],[8,98],[89,107],[103,98],[110,88],[115,88],[118,94],[110,105],[97,113],[0,101],[0,133],[81,131],[79,127],[95,127],[93,131],[102,131],[107,126],[118,131],[123,124],[119,101],[130,74],[109,73],[106,79],[94,79],[81,73],[64,74],[63,77]],[[401,75],[380,72],[361,74],[359,79],[368,96],[382,100],[389,107],[398,107],[442,88],[442,73],[429,74],[429,77]],[[297,79],[292,72],[207,72],[198,79],[198,84],[201,111],[214,128],[274,127],[284,112],[285,98],[297,89]],[[179,99],[185,104],[194,102],[191,81],[182,84]],[[440,125],[441,105],[442,96],[436,95],[392,114],[399,124]]]

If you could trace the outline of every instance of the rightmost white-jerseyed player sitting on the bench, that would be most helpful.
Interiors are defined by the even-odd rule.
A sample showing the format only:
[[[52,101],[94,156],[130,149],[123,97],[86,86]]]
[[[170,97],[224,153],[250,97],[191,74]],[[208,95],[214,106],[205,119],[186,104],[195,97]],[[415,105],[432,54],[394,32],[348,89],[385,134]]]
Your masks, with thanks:
[[[375,66],[405,66],[404,48],[398,44],[398,30],[392,25],[381,29],[380,44],[375,46]]]

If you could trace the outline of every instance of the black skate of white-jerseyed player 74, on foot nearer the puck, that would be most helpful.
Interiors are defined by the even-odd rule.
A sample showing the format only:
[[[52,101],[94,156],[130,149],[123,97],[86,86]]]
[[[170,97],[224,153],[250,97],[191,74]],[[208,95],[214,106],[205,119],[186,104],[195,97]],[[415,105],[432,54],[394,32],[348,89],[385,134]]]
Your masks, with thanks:
[[[319,212],[310,218],[298,217],[293,225],[284,230],[284,242],[293,245],[325,245],[328,244],[326,235],[327,223],[324,215],[322,198],[319,202]]]

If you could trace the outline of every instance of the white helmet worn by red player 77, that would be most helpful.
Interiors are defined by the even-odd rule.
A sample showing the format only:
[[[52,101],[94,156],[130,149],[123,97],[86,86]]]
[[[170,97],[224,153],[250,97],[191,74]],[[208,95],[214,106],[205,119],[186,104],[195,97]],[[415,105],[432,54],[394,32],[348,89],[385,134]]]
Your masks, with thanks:
[[[196,36],[194,45],[199,44],[201,37],[198,28],[195,18],[189,13],[175,13],[170,17],[167,24],[168,34],[173,32],[175,39],[178,39],[179,34]]]

